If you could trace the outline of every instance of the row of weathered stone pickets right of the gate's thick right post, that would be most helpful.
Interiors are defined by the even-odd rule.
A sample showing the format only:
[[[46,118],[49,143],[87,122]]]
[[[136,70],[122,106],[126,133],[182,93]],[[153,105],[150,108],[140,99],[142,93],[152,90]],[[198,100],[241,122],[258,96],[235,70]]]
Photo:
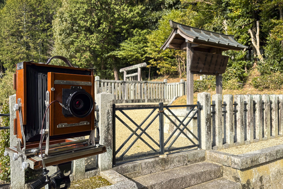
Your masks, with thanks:
[[[212,95],[213,149],[282,136],[283,95]]]

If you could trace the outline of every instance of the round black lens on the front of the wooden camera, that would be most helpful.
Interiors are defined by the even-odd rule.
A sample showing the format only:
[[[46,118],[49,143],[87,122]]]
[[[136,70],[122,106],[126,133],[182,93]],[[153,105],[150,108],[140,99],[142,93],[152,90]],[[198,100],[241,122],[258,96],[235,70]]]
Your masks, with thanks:
[[[77,91],[67,99],[68,111],[78,118],[88,116],[93,109],[92,96],[85,91]]]

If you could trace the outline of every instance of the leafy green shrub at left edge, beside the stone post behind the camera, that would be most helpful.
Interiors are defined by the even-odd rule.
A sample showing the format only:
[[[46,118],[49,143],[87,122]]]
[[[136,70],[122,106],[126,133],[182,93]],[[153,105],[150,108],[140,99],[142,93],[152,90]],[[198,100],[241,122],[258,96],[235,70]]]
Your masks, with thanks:
[[[1,114],[10,113],[9,101],[6,99]],[[1,117],[1,127],[10,126],[9,117]],[[0,130],[0,180],[10,182],[10,157],[4,156],[5,148],[10,146],[10,129]]]

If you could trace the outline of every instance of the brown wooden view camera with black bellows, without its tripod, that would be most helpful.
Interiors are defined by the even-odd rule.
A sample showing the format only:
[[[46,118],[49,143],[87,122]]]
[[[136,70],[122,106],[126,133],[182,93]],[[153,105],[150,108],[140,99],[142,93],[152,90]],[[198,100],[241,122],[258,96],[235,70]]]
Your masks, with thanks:
[[[53,58],[69,67],[48,65]],[[106,152],[105,146],[99,145],[93,70],[73,67],[62,56],[53,58],[47,63],[20,62],[14,74],[14,135],[18,141],[17,146],[5,149],[5,155],[22,162],[23,169]],[[82,136],[89,138],[72,139]]]

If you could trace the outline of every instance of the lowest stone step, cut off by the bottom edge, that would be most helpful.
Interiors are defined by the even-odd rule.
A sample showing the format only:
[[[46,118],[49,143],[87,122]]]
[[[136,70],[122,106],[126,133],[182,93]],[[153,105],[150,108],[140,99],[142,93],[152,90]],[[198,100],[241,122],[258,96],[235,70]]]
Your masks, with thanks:
[[[225,178],[211,180],[196,186],[191,186],[186,189],[240,189],[241,185],[238,182],[233,182]]]

